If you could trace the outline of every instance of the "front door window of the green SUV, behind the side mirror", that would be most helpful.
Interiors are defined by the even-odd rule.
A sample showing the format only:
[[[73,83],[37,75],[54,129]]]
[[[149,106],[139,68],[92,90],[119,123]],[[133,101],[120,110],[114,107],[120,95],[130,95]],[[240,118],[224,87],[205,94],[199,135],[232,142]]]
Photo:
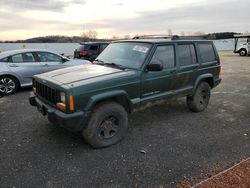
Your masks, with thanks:
[[[150,64],[161,64],[163,69],[173,68],[175,66],[174,46],[158,46]]]

